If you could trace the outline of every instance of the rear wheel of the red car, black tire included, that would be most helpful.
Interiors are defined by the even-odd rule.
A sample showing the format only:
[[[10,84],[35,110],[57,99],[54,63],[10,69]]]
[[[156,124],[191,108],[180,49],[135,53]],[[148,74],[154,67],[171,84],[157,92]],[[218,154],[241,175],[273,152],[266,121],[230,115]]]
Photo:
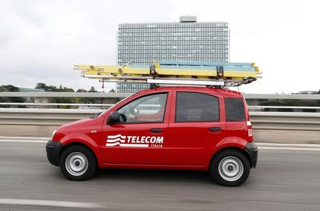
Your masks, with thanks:
[[[219,185],[238,186],[247,180],[250,174],[248,158],[235,149],[217,153],[210,163],[210,175]]]

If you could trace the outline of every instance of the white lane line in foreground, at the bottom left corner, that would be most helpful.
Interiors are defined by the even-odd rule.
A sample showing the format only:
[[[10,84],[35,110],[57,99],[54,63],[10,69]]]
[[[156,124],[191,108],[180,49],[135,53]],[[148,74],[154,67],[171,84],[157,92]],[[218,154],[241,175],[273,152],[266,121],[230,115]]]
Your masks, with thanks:
[[[73,208],[104,208],[95,203],[86,202],[67,202],[51,200],[23,200],[12,198],[0,198],[0,205],[29,205],[29,206],[48,206],[48,207],[73,207]]]

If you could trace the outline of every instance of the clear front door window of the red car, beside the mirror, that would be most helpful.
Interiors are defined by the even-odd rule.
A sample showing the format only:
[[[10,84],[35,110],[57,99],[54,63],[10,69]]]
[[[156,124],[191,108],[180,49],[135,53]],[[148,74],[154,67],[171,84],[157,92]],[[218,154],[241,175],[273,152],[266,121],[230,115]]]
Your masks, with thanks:
[[[134,99],[118,110],[120,117],[122,117],[120,120],[128,123],[164,121],[167,96],[168,93],[161,93]]]

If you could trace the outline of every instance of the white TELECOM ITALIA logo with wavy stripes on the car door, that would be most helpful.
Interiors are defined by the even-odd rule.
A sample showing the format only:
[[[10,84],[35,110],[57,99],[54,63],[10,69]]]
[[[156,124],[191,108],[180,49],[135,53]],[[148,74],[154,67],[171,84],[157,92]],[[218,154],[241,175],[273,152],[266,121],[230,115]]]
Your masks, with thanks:
[[[162,147],[164,136],[122,136],[121,134],[107,137],[105,146],[124,147]]]

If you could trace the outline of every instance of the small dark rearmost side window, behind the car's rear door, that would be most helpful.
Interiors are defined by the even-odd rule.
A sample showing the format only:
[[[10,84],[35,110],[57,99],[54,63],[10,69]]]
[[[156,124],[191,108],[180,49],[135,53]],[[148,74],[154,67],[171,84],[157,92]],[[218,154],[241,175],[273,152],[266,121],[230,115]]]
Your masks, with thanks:
[[[225,98],[227,121],[245,121],[245,107],[242,98]]]

